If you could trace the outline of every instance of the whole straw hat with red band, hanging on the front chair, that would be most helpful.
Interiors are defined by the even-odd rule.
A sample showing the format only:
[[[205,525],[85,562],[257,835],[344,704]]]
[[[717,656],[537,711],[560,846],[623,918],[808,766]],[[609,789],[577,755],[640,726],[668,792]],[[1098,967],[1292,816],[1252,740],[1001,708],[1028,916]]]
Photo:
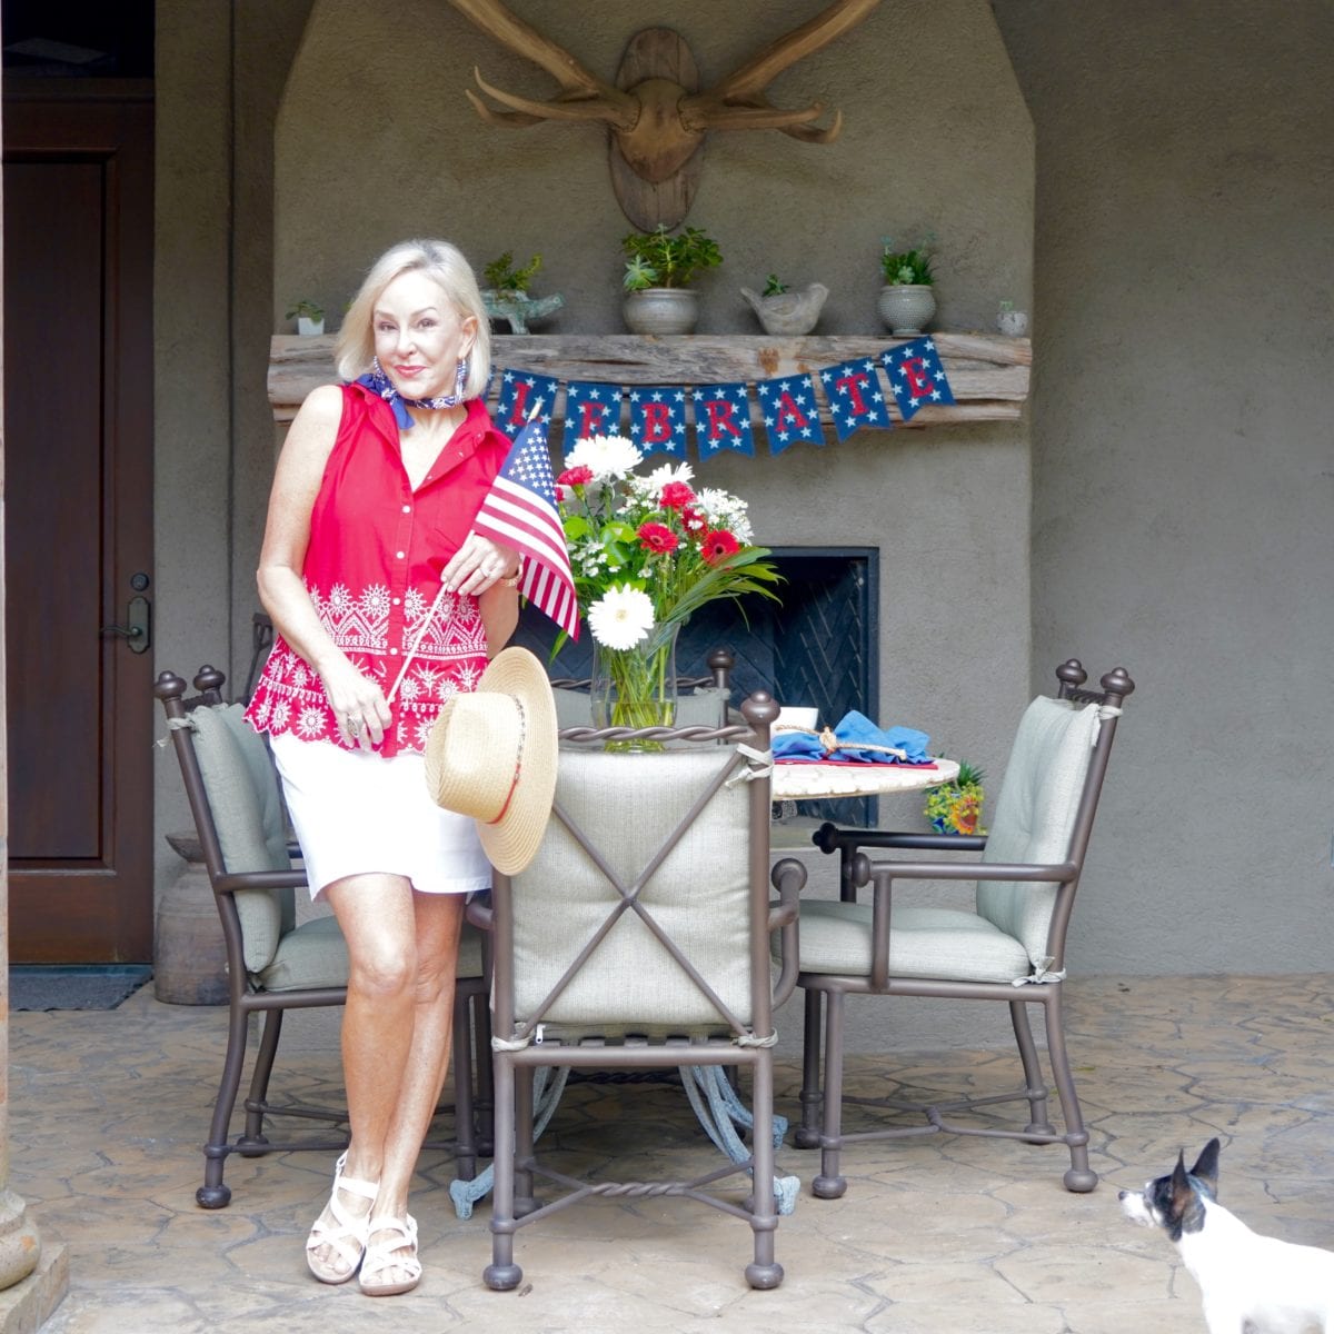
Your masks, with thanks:
[[[556,791],[556,702],[527,648],[496,654],[472,694],[446,702],[426,743],[426,786],[436,806],[478,822],[498,871],[534,859]]]

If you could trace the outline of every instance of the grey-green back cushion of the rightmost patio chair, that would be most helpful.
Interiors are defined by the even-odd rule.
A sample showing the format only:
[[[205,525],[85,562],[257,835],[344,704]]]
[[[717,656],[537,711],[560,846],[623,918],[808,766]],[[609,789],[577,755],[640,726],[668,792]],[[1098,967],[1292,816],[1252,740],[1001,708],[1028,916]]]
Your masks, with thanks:
[[[1042,695],[1025,711],[996,799],[983,862],[1065,862],[1098,739],[1098,706]],[[978,912],[1019,940],[1034,964],[1047,956],[1055,882],[979,882]]]

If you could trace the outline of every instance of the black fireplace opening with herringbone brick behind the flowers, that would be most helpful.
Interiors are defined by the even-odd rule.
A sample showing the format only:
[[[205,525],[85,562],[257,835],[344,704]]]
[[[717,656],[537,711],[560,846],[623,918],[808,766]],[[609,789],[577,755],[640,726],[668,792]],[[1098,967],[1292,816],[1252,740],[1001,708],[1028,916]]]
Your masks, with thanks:
[[[767,690],[779,704],[819,710],[834,726],[852,708],[879,716],[879,550],[875,547],[774,547],[772,560],[783,583],[779,602],[754,594],[739,602],[724,599],[700,608],[676,640],[676,671],[682,676],[708,674],[708,655],[731,650],[732,702]],[[567,640],[551,656],[552,623],[524,607],[514,643],[531,648],[548,663],[552,676],[591,675],[592,643],[587,628],[579,643]],[[870,826],[874,802],[852,798],[802,803],[802,814],[838,824]]]

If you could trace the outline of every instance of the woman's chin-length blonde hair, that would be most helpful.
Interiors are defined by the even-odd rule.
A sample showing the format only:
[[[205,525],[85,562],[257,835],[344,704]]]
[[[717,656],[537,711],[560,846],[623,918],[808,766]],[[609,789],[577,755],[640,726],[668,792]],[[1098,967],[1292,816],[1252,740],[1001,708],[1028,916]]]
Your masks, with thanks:
[[[491,320],[478,291],[478,279],[463,252],[448,241],[411,240],[391,245],[366,275],[360,289],[343,317],[334,358],[344,380],[366,375],[375,360],[375,303],[400,273],[422,272],[434,279],[460,315],[476,320],[476,335],[468,354],[468,376],[463,382],[466,399],[482,398],[491,379]]]

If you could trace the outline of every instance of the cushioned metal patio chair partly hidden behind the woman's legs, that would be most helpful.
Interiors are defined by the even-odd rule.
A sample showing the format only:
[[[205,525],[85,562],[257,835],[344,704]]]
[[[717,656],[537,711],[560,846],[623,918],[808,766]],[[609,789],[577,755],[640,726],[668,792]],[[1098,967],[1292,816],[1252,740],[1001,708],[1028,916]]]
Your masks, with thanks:
[[[216,668],[201,667],[193,682],[199,695],[191,699],[185,698],[185,682],[173,672],[164,671],[153,686],[167,714],[227,948],[227,1055],[204,1145],[204,1185],[195,1193],[203,1209],[225,1209],[231,1202],[223,1171],[233,1153],[257,1158],[347,1146],[346,1109],[269,1101],[283,1015],[288,1010],[342,1006],[347,999],[348,958],[332,916],[296,924],[295,890],[305,887],[305,876],[293,868],[292,856],[300,856],[300,848],[288,836],[268,746],[241,716],[243,706],[224,702],[224,680]],[[454,1010],[455,1138],[448,1142],[463,1177],[476,1171],[483,1150],[478,1122],[486,1119],[491,1103],[490,1062],[480,1062],[474,1079],[470,1031],[471,1023],[479,1050],[486,1051],[488,984],[482,935],[476,927],[464,926]],[[263,1014],[264,1023],[244,1103],[245,1127],[231,1141],[253,1014]],[[271,1139],[265,1123],[273,1117],[323,1122],[327,1129],[320,1138]],[[427,1146],[442,1143],[430,1139]]]

